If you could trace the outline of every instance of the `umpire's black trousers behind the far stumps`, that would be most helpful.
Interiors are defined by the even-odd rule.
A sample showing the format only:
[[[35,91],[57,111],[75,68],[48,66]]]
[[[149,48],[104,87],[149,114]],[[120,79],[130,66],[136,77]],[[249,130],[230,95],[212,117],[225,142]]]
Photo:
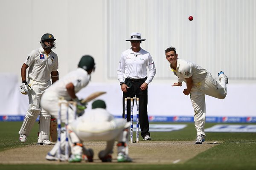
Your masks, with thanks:
[[[125,97],[139,97],[139,116],[140,116],[140,129],[141,136],[148,135],[149,123],[148,123],[148,89],[141,91],[140,86],[145,82],[145,79],[125,79],[125,84],[129,87],[126,93],[123,93],[123,112],[122,117],[125,118]],[[136,110],[136,109],[134,109]],[[136,113],[136,112],[135,112]],[[135,114],[134,114],[135,115]],[[134,116],[135,117],[135,116]],[[127,100],[127,121],[131,121],[131,100]]]

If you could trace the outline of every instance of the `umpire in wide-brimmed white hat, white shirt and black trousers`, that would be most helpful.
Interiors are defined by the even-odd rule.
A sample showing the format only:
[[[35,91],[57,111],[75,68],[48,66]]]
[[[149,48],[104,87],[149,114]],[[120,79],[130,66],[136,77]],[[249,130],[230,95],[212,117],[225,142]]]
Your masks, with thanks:
[[[117,76],[123,92],[123,111],[125,117],[125,97],[139,97],[140,99],[140,129],[143,140],[151,140],[148,123],[148,84],[156,74],[154,61],[149,52],[140,48],[140,33],[131,33],[131,38],[126,41],[131,42],[131,48],[122,52],[117,70]],[[149,74],[147,77],[147,67]],[[125,80],[124,80],[125,79]],[[131,105],[128,101],[127,121],[131,119]]]

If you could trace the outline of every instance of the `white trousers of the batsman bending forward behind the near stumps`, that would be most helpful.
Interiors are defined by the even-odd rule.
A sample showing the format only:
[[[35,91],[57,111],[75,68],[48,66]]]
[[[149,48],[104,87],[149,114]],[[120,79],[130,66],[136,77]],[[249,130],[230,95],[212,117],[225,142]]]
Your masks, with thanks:
[[[67,102],[66,100],[59,100],[58,94],[54,92],[45,91],[41,99],[41,106],[44,108],[50,115],[58,118],[58,111],[59,111],[59,102]],[[73,105],[62,104],[61,105],[61,122],[66,122],[66,113],[68,109],[68,123],[73,122],[75,119],[75,113],[73,111]]]

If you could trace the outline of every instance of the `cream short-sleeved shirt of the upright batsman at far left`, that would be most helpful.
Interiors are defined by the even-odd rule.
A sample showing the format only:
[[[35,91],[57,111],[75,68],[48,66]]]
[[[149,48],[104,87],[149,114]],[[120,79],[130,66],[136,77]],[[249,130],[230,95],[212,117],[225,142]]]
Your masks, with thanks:
[[[58,69],[58,56],[53,51],[47,55],[44,48],[40,47],[31,51],[24,63],[29,66],[29,79],[48,82],[51,79],[51,72]]]

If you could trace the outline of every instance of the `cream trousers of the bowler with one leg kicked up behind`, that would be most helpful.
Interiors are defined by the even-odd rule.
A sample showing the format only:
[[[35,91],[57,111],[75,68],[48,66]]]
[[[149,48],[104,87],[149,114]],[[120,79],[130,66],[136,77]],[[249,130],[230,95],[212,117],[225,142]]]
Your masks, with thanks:
[[[208,72],[206,79],[193,85],[190,91],[190,99],[195,112],[194,121],[197,135],[205,136],[205,95],[218,99],[224,99],[227,95],[227,76],[221,74],[219,79],[221,83],[218,83],[218,81]]]

